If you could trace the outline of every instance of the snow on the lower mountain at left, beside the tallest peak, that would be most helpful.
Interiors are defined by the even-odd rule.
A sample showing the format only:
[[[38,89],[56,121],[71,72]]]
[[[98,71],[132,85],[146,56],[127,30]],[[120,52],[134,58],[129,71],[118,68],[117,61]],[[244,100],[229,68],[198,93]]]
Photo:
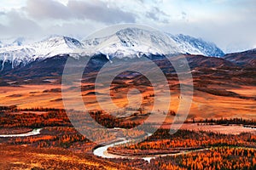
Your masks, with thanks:
[[[27,45],[17,42],[0,48],[0,60],[3,60],[3,64],[10,61],[14,68],[18,65],[26,65],[36,59],[72,53],[75,48],[82,47],[83,45],[78,40],[71,37],[49,37],[41,42]]]

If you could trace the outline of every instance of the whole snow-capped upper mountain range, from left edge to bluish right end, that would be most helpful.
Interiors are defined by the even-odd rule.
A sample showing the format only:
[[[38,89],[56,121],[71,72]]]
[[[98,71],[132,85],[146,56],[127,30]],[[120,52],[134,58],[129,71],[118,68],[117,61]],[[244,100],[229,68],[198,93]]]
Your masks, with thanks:
[[[53,57],[58,54],[106,54],[112,57],[140,57],[142,54],[202,54],[223,56],[224,53],[212,42],[183,35],[164,36],[157,31],[126,28],[107,37],[86,39],[82,42],[73,37],[54,36],[39,42],[26,42],[20,37],[6,44],[0,42],[0,63],[12,68]],[[90,51],[89,51],[90,50]]]

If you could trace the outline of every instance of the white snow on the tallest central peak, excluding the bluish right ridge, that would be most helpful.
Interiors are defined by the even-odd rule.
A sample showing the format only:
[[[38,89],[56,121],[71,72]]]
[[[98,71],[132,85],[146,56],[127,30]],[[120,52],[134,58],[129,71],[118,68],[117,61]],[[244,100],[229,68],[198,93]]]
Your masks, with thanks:
[[[86,48],[96,48],[98,53],[110,57],[137,57],[140,54],[178,54],[176,42],[157,31],[126,28],[115,34],[84,40]]]

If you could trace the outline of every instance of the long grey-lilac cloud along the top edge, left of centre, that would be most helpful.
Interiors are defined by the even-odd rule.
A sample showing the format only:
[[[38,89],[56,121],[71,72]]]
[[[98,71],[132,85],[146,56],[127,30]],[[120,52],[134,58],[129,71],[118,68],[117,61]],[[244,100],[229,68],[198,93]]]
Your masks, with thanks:
[[[67,6],[54,0],[28,0],[27,13],[34,19],[95,20],[103,23],[135,22],[134,14],[108,3],[96,1],[69,1]]]

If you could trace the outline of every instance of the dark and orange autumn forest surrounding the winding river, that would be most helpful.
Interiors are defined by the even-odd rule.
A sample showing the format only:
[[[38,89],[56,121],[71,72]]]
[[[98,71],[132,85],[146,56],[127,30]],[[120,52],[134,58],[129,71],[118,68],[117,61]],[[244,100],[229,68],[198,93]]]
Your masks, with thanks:
[[[170,113],[172,115],[173,113]],[[142,116],[143,115],[143,116]],[[136,138],[142,137],[154,128],[154,123],[147,124],[146,132],[137,127],[147,117],[147,114],[133,115],[132,119],[117,118],[102,111],[91,111],[91,116],[102,126],[116,130],[114,136],[102,131],[96,131],[86,127],[96,138],[105,139],[102,142],[115,141],[125,136],[130,143],[120,144],[108,148],[108,153],[119,156],[137,156],[135,159],[128,158],[99,158],[92,154],[98,144],[86,139],[73,127],[67,116],[67,111],[51,108],[19,109],[15,106],[0,107],[0,132],[1,133],[26,133],[35,128],[42,128],[40,134],[27,137],[0,138],[0,143],[9,146],[26,146],[35,150],[68,150],[73,154],[81,154],[86,159],[109,161],[115,167],[123,169],[255,169],[256,168],[256,133],[224,134],[206,131],[180,129],[177,133],[170,134],[168,126],[160,127],[148,139],[137,143]],[[73,115],[81,119],[83,114],[73,111]],[[138,117],[136,119],[136,117]],[[142,119],[143,117],[143,119]],[[85,121],[90,121],[85,119]],[[188,121],[188,123],[191,123]],[[194,121],[204,125],[232,125],[254,127],[255,120],[210,119]],[[114,130],[114,129],[113,129]],[[45,151],[47,152],[47,151]],[[61,151],[62,152],[62,151]],[[90,158],[88,158],[88,156]],[[144,161],[139,156],[155,156],[151,161]],[[70,162],[70,161],[69,161]],[[66,162],[67,163],[67,162]],[[107,163],[108,165],[108,163]],[[89,167],[88,167],[89,168]],[[103,167],[102,167],[103,168]],[[92,168],[99,169],[99,168]]]

